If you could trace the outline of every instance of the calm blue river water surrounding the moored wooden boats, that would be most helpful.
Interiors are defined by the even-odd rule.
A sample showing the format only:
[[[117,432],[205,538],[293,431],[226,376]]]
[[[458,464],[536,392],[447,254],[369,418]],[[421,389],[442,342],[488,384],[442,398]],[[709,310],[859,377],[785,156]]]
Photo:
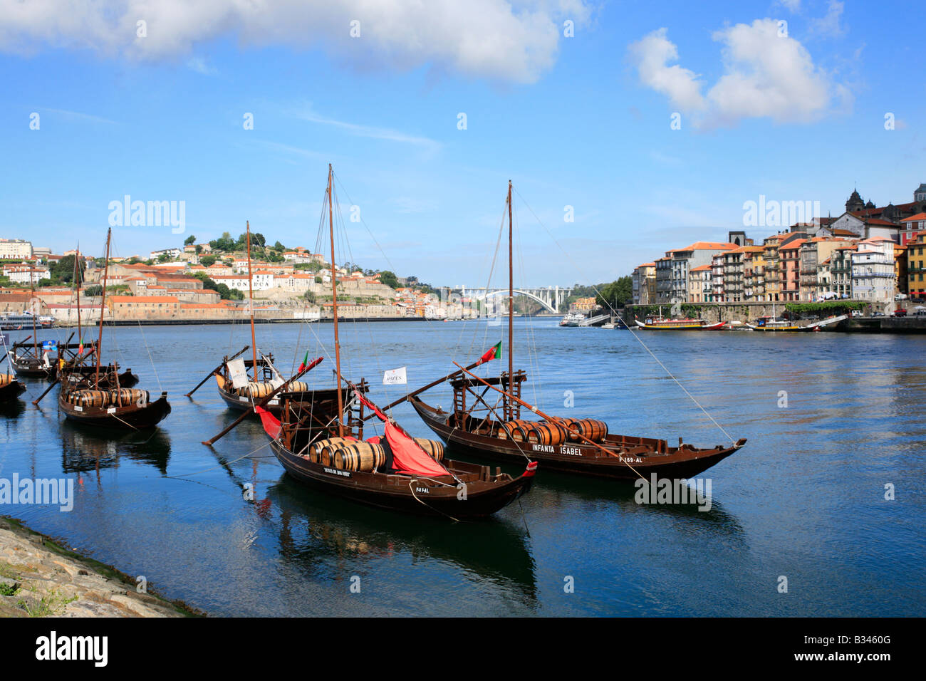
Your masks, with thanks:
[[[407,366],[409,384],[422,385],[453,369],[451,358],[478,357],[503,328],[347,323],[344,372],[367,377],[383,404],[401,395],[381,385],[383,370]],[[535,379],[524,394],[547,410],[670,443],[727,441],[629,332],[544,319],[518,320],[516,334],[518,364]],[[106,330],[109,359],[139,373],[139,387],[169,392],[173,412],[154,432],[101,438],[64,422],[56,389],[33,408],[44,383],[31,382],[26,406],[0,417],[0,477],[74,477],[75,507],[0,513],[215,615],[926,614],[926,338],[639,337],[724,429],[749,438],[703,474],[710,511],[638,506],[632,486],[543,468],[520,507],[486,523],[311,491],[282,472],[257,422],[214,449],[200,444],[234,414],[212,382],[182,396],[250,341],[247,327],[206,326]],[[330,324],[258,326],[257,338],[287,369],[306,349],[332,351]],[[332,385],[332,367],[326,359],[308,375]],[[450,405],[449,388],[427,397]],[[432,435],[407,405],[394,415]],[[243,498],[247,483],[256,502]]]

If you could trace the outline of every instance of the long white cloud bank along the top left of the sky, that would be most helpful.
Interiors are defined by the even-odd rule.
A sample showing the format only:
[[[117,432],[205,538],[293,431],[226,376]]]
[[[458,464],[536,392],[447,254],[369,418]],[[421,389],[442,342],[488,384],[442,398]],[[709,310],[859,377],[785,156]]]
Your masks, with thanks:
[[[587,0],[0,0],[0,51],[89,48],[109,57],[178,60],[207,41],[322,47],[360,67],[430,64],[472,77],[534,82],[557,58],[563,21]],[[350,36],[357,19],[360,37]],[[136,25],[146,22],[145,37]]]

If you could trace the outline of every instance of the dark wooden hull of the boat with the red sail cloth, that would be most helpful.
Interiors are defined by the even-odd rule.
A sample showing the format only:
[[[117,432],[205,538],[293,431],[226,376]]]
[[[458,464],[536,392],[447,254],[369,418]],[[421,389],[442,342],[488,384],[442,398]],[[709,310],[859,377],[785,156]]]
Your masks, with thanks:
[[[533,482],[533,471],[507,481],[468,482],[464,496],[463,490],[447,476],[444,484],[440,484],[426,477],[340,471],[297,456],[279,439],[271,440],[271,447],[286,473],[303,485],[368,506],[416,515],[455,520],[487,518],[527,493]],[[488,477],[488,467],[452,460],[445,460],[444,465],[457,473],[477,473],[482,468],[482,477]]]

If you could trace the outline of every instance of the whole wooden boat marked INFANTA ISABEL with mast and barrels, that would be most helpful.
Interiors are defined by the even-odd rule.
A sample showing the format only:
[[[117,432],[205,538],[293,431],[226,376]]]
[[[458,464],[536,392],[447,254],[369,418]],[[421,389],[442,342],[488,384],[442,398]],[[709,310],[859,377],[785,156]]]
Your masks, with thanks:
[[[510,313],[514,292],[510,182],[507,209]],[[745,445],[745,439],[740,439],[730,445],[695,448],[683,444],[680,438],[678,447],[669,447],[665,440],[609,434],[605,422],[547,416],[520,397],[521,384],[526,374],[523,371],[515,372],[513,341],[514,330],[509,314],[507,372],[485,379],[470,372],[486,361],[498,359],[501,348],[499,343],[469,367],[457,365],[457,372],[408,393],[388,407],[409,400],[436,435],[448,445],[463,449],[470,456],[505,462],[530,458],[539,462],[544,469],[548,467],[567,473],[622,480],[635,480],[651,473],[657,473],[660,477],[688,478],[705,471]],[[454,391],[453,407],[449,412],[435,409],[418,397],[423,391],[445,381],[450,381]],[[490,390],[501,396],[500,406],[494,406],[486,397]],[[543,421],[522,419],[522,407]]]

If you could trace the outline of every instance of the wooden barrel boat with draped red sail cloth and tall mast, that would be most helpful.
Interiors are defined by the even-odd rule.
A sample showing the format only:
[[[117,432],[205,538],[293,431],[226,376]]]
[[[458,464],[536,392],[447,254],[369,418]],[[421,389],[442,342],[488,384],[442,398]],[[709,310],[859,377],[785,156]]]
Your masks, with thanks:
[[[257,408],[277,460],[295,480],[339,497],[393,511],[445,516],[454,520],[483,518],[530,489],[536,463],[517,478],[491,473],[487,466],[442,461],[443,446],[412,439],[397,423],[347,382],[356,404],[346,423],[341,397],[341,351],[338,342],[337,276],[332,214],[332,167],[328,167],[328,214],[332,245],[332,315],[334,322],[336,421],[327,428],[307,427],[306,416],[285,400],[282,420]],[[380,418],[384,435],[363,440],[364,410]],[[326,433],[327,431],[327,433]],[[426,444],[428,443],[428,444]],[[430,455],[422,448],[430,449]],[[440,447],[439,447],[440,446]]]

